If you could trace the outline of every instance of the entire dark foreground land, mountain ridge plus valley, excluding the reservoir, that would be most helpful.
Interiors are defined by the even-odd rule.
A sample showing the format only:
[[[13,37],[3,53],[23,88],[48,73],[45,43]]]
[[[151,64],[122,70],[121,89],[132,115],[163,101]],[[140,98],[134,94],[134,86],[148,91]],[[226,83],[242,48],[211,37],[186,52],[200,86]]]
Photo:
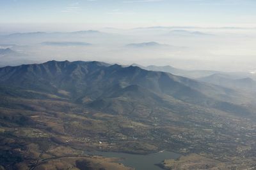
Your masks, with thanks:
[[[97,61],[1,67],[0,167],[131,169],[84,150],[252,167],[255,95],[205,81]]]

